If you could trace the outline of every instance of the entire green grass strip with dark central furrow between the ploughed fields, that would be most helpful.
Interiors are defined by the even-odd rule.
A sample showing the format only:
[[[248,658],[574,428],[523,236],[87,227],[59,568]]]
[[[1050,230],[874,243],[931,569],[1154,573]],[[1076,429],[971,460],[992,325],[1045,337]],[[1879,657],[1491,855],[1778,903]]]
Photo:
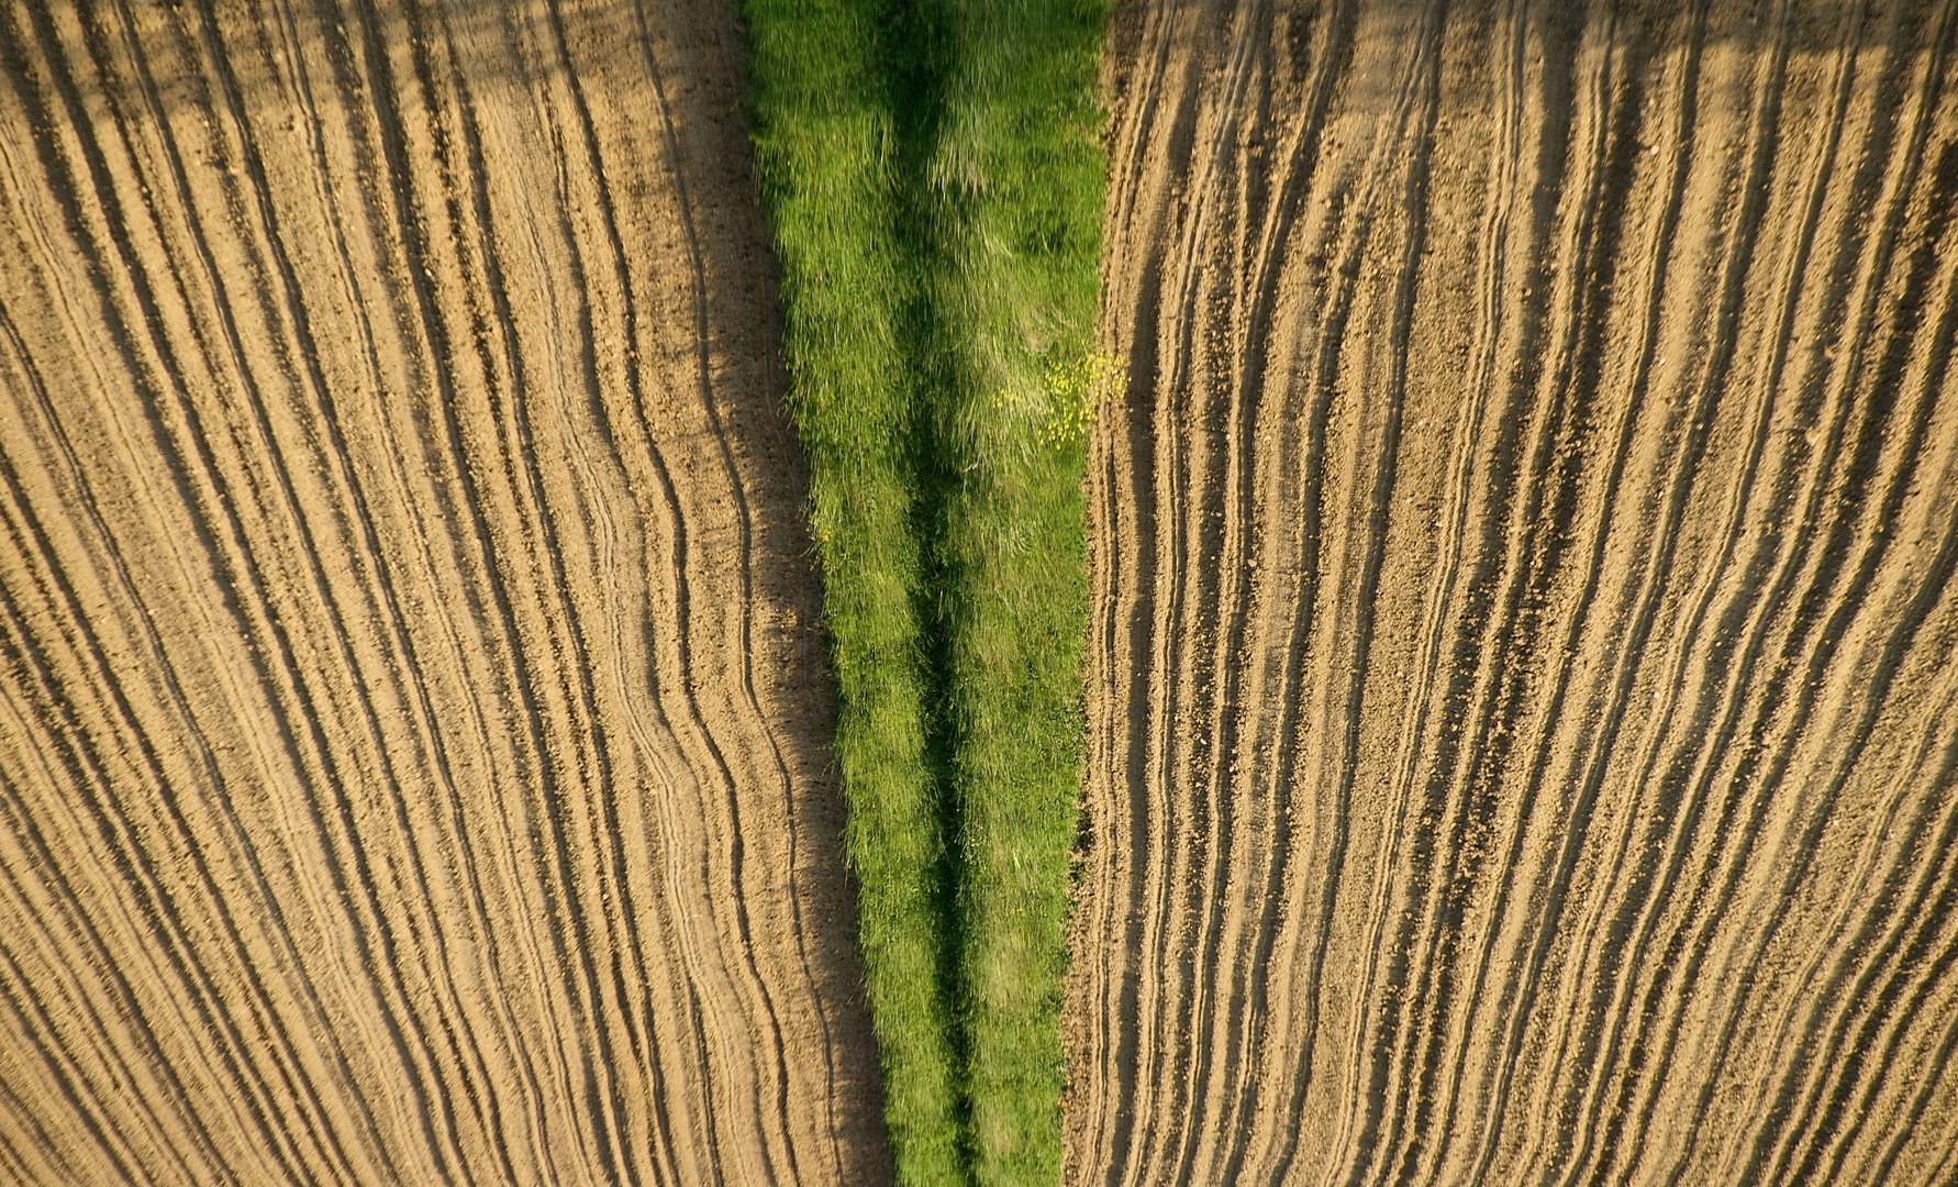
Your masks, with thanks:
[[[1100,0],[748,0],[905,1183],[1059,1179]]]

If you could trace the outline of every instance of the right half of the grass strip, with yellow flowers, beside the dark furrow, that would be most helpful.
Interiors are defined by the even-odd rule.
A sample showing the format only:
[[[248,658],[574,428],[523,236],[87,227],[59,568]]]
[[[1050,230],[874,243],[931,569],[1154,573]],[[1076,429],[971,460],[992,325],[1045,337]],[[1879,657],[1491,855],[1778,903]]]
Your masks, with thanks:
[[[1061,1173],[1069,854],[1087,633],[1104,6],[934,2],[928,309],[969,1156],[983,1187]]]

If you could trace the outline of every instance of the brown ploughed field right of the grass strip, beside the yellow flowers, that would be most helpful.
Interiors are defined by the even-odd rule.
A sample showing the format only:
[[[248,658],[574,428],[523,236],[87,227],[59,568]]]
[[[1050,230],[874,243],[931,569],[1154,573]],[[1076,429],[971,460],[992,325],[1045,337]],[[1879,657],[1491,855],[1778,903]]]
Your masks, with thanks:
[[[1118,16],[1071,1181],[1958,1175],[1954,31]]]

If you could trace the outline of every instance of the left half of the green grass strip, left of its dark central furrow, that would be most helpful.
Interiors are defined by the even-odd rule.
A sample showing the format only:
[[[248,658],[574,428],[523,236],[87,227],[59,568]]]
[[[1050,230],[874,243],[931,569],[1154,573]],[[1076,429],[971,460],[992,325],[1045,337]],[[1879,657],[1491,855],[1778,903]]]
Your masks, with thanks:
[[[916,270],[893,233],[897,149],[883,4],[750,0],[756,172],[781,259],[789,405],[809,458],[838,686],[858,948],[899,1181],[965,1181],[944,991],[944,831],[926,750],[930,672],[912,368]]]

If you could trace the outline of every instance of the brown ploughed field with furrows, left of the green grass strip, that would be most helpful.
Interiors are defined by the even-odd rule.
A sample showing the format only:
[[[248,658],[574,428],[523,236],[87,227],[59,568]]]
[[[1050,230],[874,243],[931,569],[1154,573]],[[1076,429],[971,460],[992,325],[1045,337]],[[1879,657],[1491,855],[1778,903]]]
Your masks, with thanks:
[[[0,4],[0,1181],[889,1177],[740,69]]]

